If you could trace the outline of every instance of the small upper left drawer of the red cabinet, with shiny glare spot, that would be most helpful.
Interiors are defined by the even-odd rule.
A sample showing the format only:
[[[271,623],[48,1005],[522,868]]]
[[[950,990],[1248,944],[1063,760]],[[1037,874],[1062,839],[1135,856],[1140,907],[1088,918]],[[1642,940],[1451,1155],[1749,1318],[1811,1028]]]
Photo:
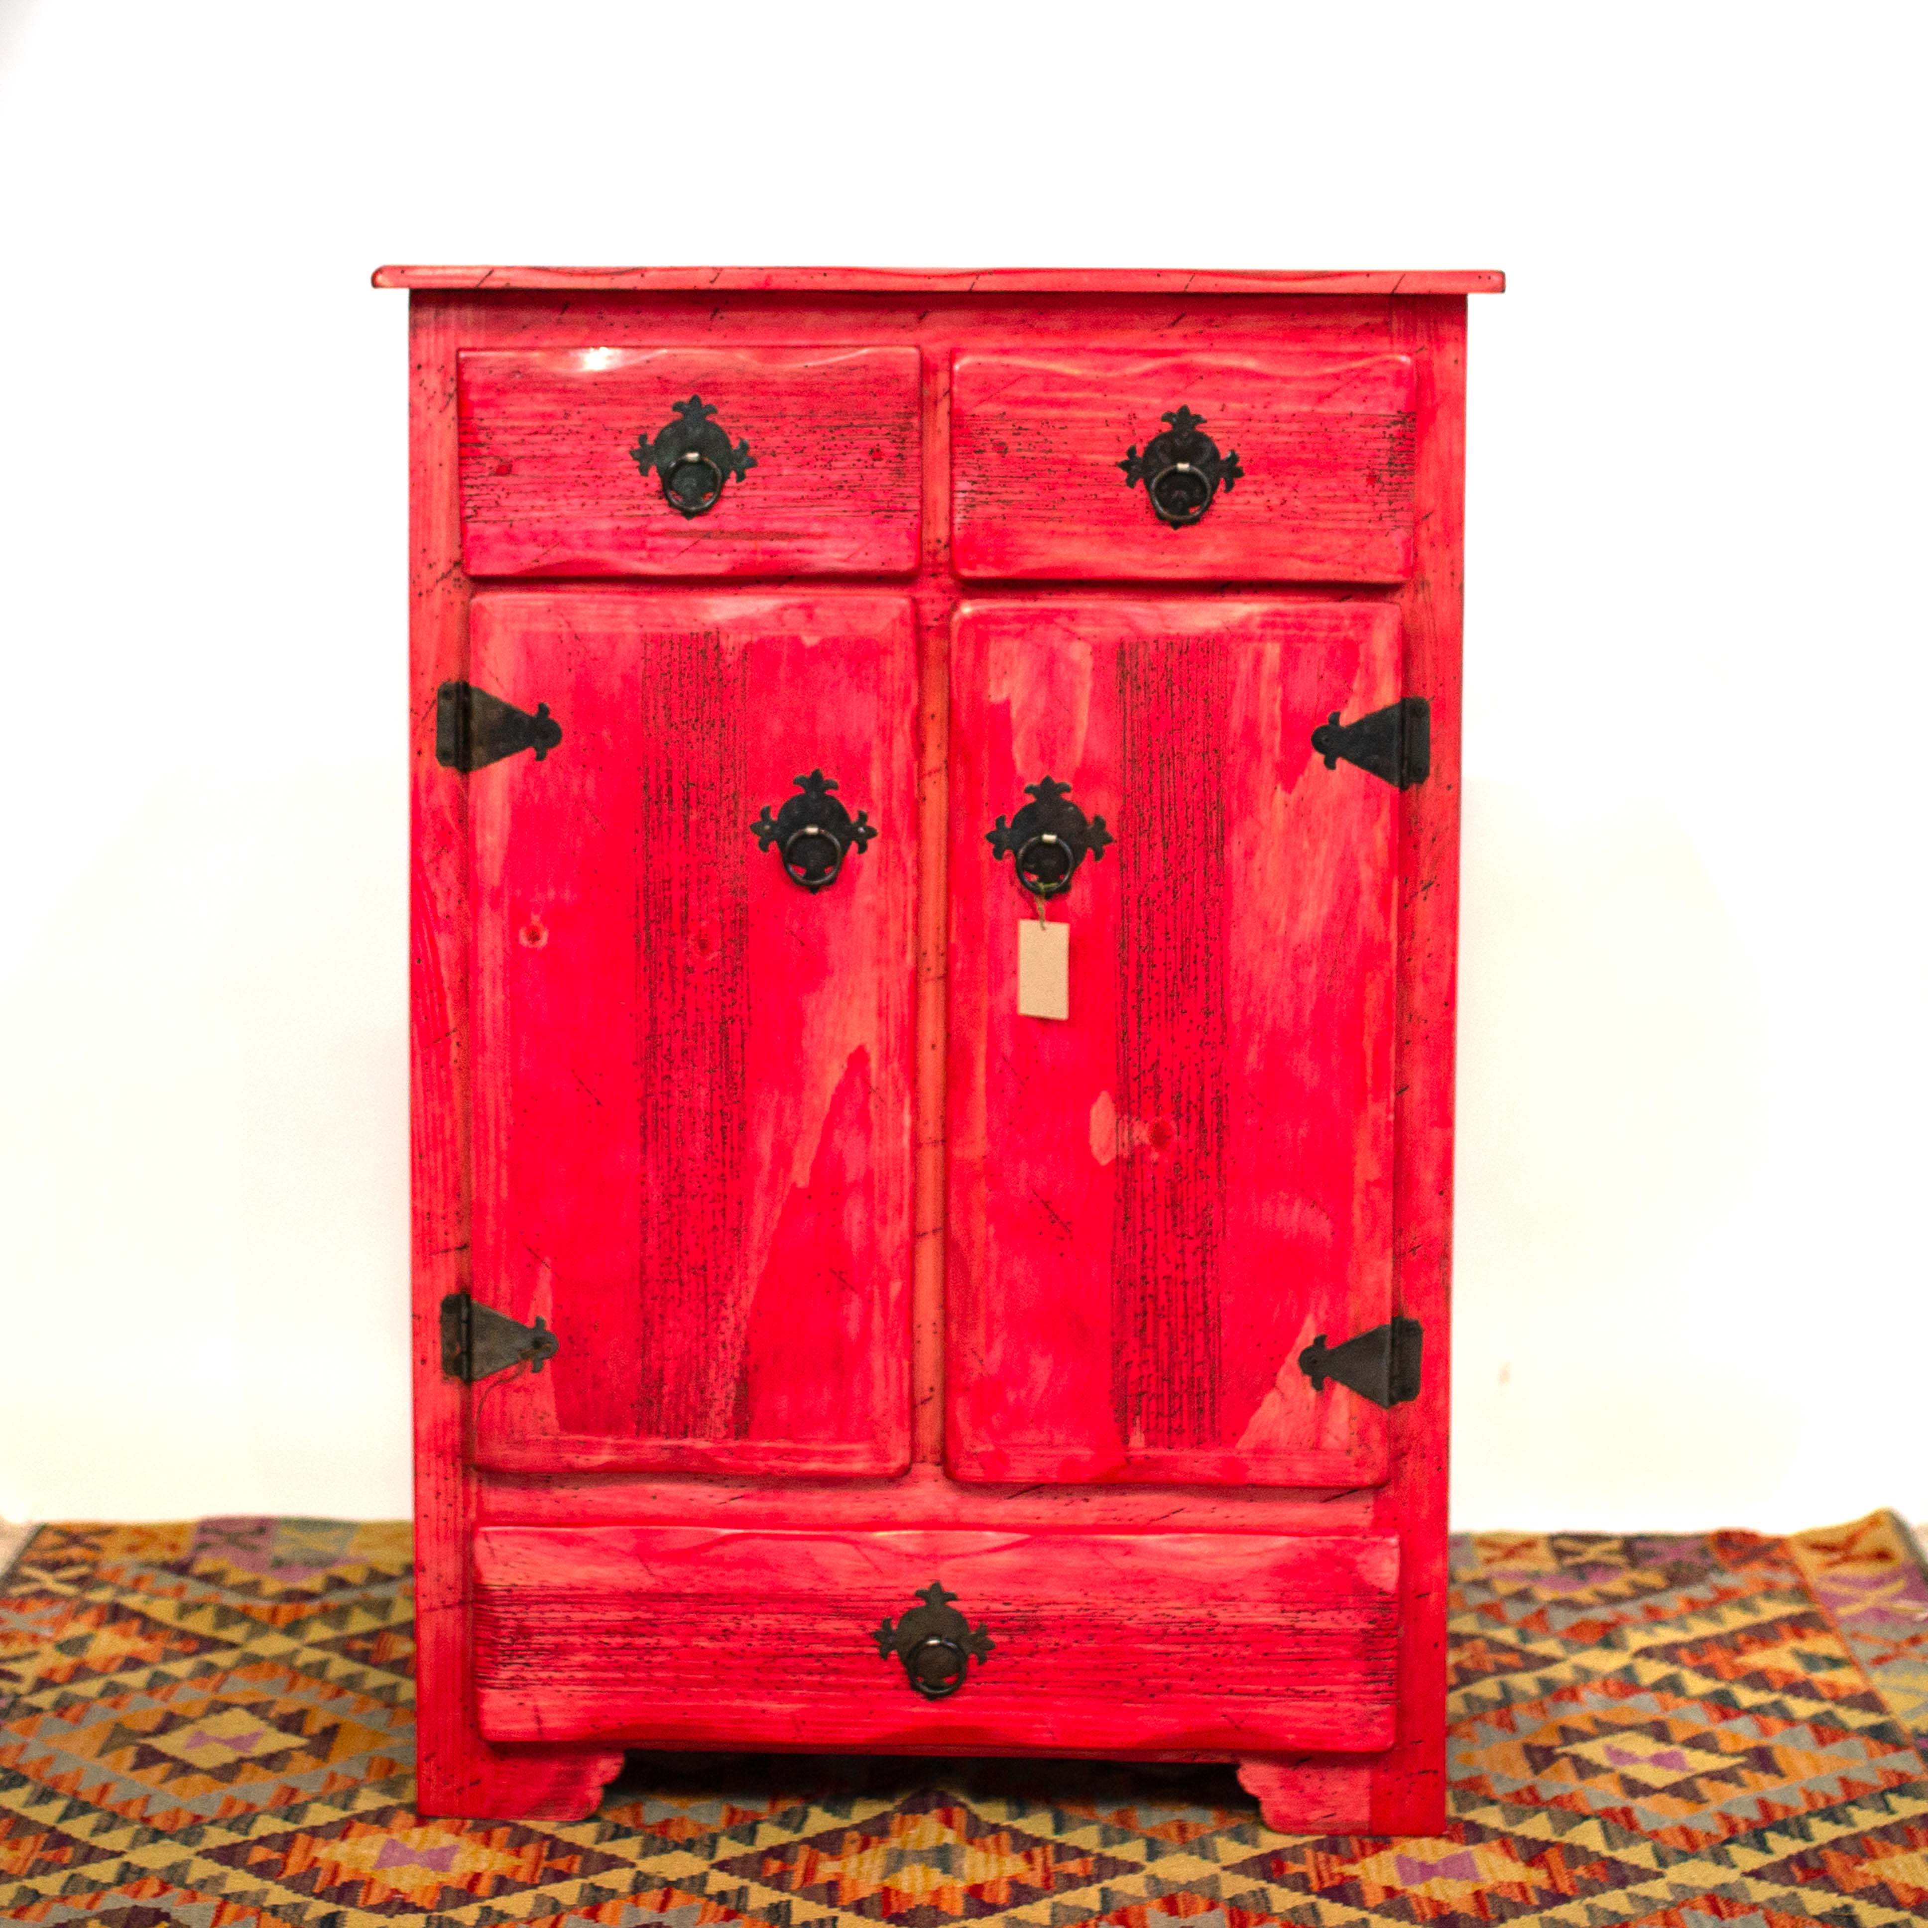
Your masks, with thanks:
[[[470,349],[472,576],[902,575],[916,349]]]

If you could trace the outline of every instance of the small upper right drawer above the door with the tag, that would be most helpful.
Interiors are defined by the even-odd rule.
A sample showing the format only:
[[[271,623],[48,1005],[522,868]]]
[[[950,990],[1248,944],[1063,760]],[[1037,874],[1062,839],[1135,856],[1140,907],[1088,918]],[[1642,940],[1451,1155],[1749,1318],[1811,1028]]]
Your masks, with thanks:
[[[1400,582],[1409,355],[958,355],[962,576]]]

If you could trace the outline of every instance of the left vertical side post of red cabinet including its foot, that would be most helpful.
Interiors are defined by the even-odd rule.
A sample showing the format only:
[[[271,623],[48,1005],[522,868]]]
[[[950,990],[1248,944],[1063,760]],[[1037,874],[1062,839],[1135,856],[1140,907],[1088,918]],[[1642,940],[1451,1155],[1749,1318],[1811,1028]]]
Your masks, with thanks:
[[[621,1772],[609,1749],[499,1749],[470,1691],[467,1396],[442,1373],[442,1299],[469,1265],[469,796],[436,762],[436,690],[467,671],[455,497],[453,316],[409,328],[409,1132],[415,1384],[416,1808],[578,1820]]]

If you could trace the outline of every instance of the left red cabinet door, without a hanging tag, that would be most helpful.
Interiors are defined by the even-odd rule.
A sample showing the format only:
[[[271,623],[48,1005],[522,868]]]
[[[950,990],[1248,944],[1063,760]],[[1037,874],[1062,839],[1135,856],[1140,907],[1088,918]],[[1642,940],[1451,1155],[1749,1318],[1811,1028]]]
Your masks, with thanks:
[[[563,733],[463,779],[474,1298],[557,1340],[480,1463],[906,1463],[914,663],[898,598],[476,598],[470,681]],[[862,831],[808,889],[816,771]]]

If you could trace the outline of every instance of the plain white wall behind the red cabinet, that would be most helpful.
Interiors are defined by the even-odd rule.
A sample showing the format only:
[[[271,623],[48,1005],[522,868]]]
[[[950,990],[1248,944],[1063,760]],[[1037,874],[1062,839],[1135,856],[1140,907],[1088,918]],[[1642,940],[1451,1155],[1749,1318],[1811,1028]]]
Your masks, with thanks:
[[[1928,1513],[1922,17],[0,4],[0,1513],[407,1510],[382,260],[1506,268],[1458,1521]]]

